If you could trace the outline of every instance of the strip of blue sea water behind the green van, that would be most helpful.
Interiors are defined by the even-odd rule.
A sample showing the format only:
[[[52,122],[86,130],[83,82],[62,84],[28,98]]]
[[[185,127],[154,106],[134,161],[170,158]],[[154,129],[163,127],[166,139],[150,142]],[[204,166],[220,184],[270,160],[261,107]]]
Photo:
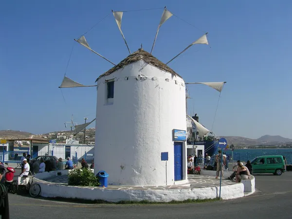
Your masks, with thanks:
[[[227,156],[231,157],[232,151],[230,149],[223,150]],[[235,149],[233,151],[233,160],[247,162],[253,160],[258,156],[264,155],[282,155],[286,157],[287,164],[292,164],[292,148],[260,148],[260,149]]]

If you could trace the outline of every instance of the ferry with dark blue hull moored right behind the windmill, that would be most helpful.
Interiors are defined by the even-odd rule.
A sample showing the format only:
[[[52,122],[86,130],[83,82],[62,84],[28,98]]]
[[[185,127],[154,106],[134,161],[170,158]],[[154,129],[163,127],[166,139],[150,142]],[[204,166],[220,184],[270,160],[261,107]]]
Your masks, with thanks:
[[[193,154],[200,158],[206,153],[211,157],[216,154],[219,137],[199,123],[197,114],[187,119],[187,136],[187,155]]]

